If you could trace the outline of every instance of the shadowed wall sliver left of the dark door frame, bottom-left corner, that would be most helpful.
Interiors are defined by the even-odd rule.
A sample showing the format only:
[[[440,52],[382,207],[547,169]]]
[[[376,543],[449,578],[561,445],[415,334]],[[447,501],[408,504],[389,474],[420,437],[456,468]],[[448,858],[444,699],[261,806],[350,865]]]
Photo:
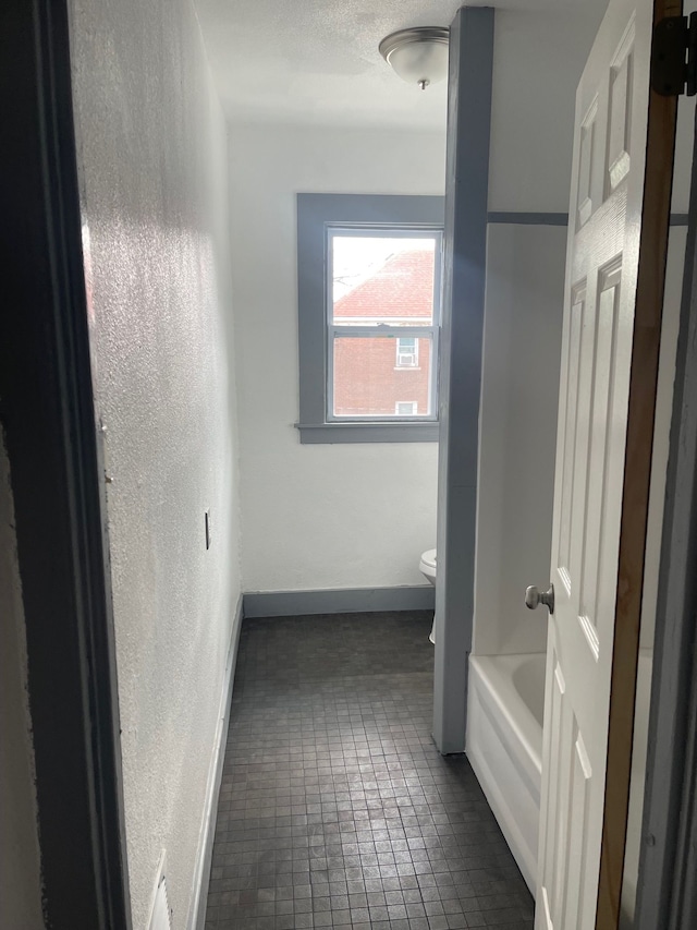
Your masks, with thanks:
[[[0,927],[39,930],[41,883],[14,506],[0,426]]]

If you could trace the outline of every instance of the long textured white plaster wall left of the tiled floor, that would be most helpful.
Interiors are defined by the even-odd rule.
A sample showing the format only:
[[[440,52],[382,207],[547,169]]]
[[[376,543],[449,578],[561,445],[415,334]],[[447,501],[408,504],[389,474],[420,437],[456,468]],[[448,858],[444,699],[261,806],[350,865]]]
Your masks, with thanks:
[[[187,0],[74,0],[72,58],[133,926],[167,853],[183,930],[240,591],[227,134]]]

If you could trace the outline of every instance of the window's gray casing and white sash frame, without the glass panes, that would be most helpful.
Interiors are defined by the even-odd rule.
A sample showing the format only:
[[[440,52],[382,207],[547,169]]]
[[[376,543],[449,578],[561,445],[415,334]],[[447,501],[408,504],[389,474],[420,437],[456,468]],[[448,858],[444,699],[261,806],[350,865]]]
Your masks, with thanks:
[[[438,442],[444,198],[430,196],[298,194],[297,282],[301,443]],[[428,326],[335,326],[332,313],[330,235],[437,239],[433,319]],[[334,416],[333,339],[338,336],[415,336],[432,339],[429,415]],[[407,371],[409,369],[405,369]],[[413,371],[413,369],[411,369]]]

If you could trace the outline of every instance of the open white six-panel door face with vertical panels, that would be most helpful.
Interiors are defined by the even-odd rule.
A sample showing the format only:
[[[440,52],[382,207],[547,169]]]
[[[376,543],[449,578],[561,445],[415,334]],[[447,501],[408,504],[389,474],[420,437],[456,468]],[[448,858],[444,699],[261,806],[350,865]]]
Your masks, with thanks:
[[[576,97],[536,930],[596,922],[652,8],[610,0]]]

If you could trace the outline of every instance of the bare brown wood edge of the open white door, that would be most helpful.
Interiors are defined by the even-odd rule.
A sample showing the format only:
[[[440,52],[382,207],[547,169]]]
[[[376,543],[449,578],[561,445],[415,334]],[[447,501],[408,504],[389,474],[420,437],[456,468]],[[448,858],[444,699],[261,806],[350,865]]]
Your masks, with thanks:
[[[681,14],[680,0],[653,3],[653,24]],[[620,920],[676,116],[676,98],[649,90],[596,930]]]

